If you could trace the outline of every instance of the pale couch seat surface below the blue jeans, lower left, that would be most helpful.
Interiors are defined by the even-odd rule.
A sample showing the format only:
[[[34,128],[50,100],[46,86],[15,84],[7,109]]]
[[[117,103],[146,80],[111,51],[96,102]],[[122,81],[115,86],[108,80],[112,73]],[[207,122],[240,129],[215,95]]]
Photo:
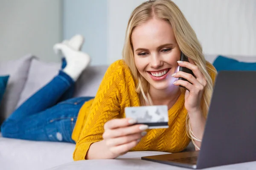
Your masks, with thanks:
[[[75,144],[0,137],[1,170],[45,170],[73,161]]]

